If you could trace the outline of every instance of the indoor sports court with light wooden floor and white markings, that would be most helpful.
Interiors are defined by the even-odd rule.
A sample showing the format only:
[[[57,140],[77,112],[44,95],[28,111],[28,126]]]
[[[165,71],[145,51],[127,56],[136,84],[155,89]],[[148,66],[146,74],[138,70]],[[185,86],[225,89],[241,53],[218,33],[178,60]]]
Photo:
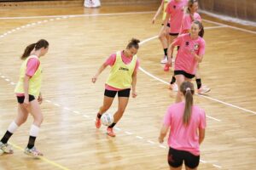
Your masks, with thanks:
[[[194,96],[195,105],[207,115],[198,169],[254,169],[255,1],[221,2],[199,0],[206,41],[201,78],[211,91]],[[161,14],[151,23],[159,5],[159,0],[102,0],[101,7],[85,8],[80,0],[0,0],[0,138],[17,115],[14,90],[20,76],[20,55],[39,39],[49,42],[49,52],[41,58],[44,122],[36,141],[44,156],[33,158],[23,153],[33,121],[28,116],[9,139],[14,154],[0,152],[0,170],[169,169],[168,136],[163,144],[158,137],[177,92],[168,89],[173,67],[163,71],[160,64]],[[239,24],[223,20],[223,15],[250,21]],[[129,99],[112,138],[106,134],[107,127],[95,127],[110,67],[96,83],[91,78],[108,56],[125,49],[132,37],[141,41],[137,98]],[[113,114],[117,107],[115,98],[107,112]]]

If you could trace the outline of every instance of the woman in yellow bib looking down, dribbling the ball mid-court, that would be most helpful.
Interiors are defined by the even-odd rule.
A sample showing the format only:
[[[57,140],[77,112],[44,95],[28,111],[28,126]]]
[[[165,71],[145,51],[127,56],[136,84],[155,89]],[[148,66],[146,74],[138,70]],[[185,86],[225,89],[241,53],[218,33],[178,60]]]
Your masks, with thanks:
[[[96,116],[96,128],[100,128],[102,125],[102,114],[108,111],[113,103],[115,95],[118,94],[119,108],[113,115],[113,123],[107,128],[107,133],[111,137],[115,136],[113,127],[119,122],[125,112],[130,97],[130,90],[132,91],[132,97],[137,97],[136,83],[139,62],[136,54],[139,48],[139,42],[139,40],[132,38],[125,50],[112,54],[105,63],[102,64],[96,75],[92,77],[92,82],[95,83],[102,71],[104,71],[108,65],[111,66],[111,71],[105,84],[106,89],[103,105],[100,107]]]

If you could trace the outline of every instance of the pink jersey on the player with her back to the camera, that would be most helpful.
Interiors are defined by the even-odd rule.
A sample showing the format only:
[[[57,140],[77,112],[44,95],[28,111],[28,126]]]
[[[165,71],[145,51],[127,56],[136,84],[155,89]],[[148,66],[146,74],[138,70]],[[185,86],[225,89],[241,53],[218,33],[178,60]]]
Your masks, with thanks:
[[[198,106],[192,107],[189,124],[183,124],[185,103],[170,105],[164,118],[164,125],[171,127],[168,145],[175,150],[189,151],[195,156],[200,155],[199,136],[197,130],[206,127],[206,114]]]

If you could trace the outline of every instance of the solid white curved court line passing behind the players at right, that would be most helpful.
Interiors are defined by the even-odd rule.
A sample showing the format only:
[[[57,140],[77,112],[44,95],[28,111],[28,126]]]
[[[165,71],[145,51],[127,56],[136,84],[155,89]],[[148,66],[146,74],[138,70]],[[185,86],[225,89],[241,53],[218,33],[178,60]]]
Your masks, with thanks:
[[[207,28],[206,28],[206,29],[207,29]],[[211,29],[213,29],[213,27],[211,27]],[[158,37],[158,36],[149,37],[148,39],[145,39],[145,40],[143,40],[142,42],[140,42],[140,45],[143,45],[145,42],[149,42],[150,40],[153,40],[153,39],[155,39],[156,37]],[[163,82],[163,83],[165,83],[165,84],[169,84],[169,82],[166,82],[166,81],[160,79],[159,77],[155,77],[154,75],[152,75],[152,74],[149,73],[148,71],[145,71],[142,67],[139,67],[139,70],[140,70],[140,71],[143,71],[145,74],[147,74],[149,77],[154,78],[155,80],[158,80],[158,81]],[[210,99],[210,100],[212,100],[212,101],[216,101],[216,102],[221,103],[221,104],[224,104],[224,105],[228,105],[228,106],[230,106],[230,107],[234,107],[234,108],[239,109],[239,110],[241,110],[241,111],[250,112],[250,113],[253,113],[254,115],[256,115],[256,112],[255,112],[255,111],[250,111],[250,110],[244,109],[244,108],[242,108],[242,107],[240,107],[240,106],[232,105],[232,104],[229,104],[229,103],[224,102],[224,101],[222,101],[222,100],[211,98],[211,97],[209,97],[209,96],[200,95],[200,94],[196,94],[196,95],[201,96],[201,97],[206,98],[206,99]],[[209,118],[213,118],[213,117],[210,117],[210,116],[208,116],[208,117],[209,117]],[[214,120],[218,120],[218,119],[216,119],[216,118],[213,118],[213,119],[214,119]],[[220,120],[218,120],[218,122],[220,122]]]

